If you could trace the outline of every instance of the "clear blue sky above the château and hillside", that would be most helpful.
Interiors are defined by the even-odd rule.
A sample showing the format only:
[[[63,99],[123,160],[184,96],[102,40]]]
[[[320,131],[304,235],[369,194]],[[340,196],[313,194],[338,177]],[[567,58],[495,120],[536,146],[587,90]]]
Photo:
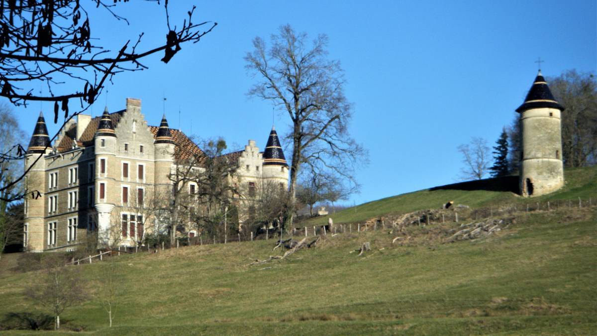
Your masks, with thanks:
[[[191,1],[170,1],[173,22],[186,16]],[[346,72],[346,96],[354,103],[352,135],[370,151],[358,172],[362,203],[456,179],[456,148],[472,136],[493,143],[536,75],[567,69],[596,71],[595,1],[210,1],[195,2],[195,22],[213,20],[216,29],[165,65],[162,54],[149,70],[115,77],[108,87],[110,111],[126,97],[142,100],[149,124],[158,125],[162,94],[171,127],[203,138],[223,136],[237,148],[248,139],[263,146],[272,124],[272,106],[246,93],[254,79],[243,56],[251,39],[269,39],[290,23],[311,36],[330,37],[330,57]],[[119,4],[131,25],[100,14],[92,32],[113,48],[145,32],[141,46],[164,40],[162,8]],[[67,87],[64,88],[67,90]],[[100,97],[93,114],[103,111]],[[51,121],[51,106],[43,107]],[[39,105],[16,108],[21,128],[33,131]],[[276,129],[288,127],[276,115]],[[56,127],[50,123],[50,132]],[[287,157],[290,150],[286,151]]]

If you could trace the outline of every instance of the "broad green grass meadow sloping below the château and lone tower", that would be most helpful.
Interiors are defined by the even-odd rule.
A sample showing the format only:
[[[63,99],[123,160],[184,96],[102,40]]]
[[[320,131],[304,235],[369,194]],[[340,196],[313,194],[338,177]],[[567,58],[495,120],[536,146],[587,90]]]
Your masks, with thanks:
[[[595,191],[594,169],[575,174],[553,199]],[[575,182],[573,175],[582,177]],[[439,204],[453,196],[457,203],[475,205],[490,204],[493,197],[461,190],[420,193],[426,196],[397,198]],[[407,200],[378,209],[418,207]],[[499,194],[493,200],[518,199]],[[361,209],[371,213],[373,205]],[[107,327],[107,314],[94,298],[65,311],[64,331],[80,327],[99,335],[595,334],[595,209],[521,212],[496,236],[456,243],[420,239],[409,246],[392,245],[389,230],[330,235],[315,249],[253,266],[248,264],[254,259],[283,252],[272,251],[273,240],[260,240],[113,257],[78,267],[92,292],[110,264],[122,274],[124,293],[114,326]],[[409,234],[424,237],[428,229],[414,227]],[[371,242],[372,251],[357,256],[353,251],[363,242]],[[0,320],[10,312],[38,310],[22,294],[36,276],[7,270],[0,274]]]

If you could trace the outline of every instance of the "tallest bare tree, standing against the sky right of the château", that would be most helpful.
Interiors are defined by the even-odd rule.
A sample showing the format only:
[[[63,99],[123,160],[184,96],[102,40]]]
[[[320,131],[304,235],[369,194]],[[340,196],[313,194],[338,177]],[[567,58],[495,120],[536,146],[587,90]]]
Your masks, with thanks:
[[[287,209],[290,225],[301,164],[353,180],[355,165],[367,160],[367,152],[349,135],[352,105],[344,96],[340,62],[327,59],[327,43],[326,35],[318,35],[310,43],[306,33],[296,33],[285,25],[278,35],[272,35],[269,49],[256,37],[254,50],[245,56],[245,67],[259,77],[248,94],[270,100],[292,122],[286,137],[293,149]]]

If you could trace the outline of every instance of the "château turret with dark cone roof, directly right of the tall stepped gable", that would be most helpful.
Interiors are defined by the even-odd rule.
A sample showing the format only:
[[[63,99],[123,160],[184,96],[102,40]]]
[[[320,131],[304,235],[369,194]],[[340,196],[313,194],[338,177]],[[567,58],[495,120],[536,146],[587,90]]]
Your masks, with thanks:
[[[161,190],[158,193],[165,193],[166,190],[170,190],[170,187],[164,188],[165,185],[171,185],[168,175],[172,165],[174,164],[174,139],[168,127],[168,121],[166,115],[162,116],[162,121],[159,124],[158,132],[156,133],[155,140],[153,141],[153,150],[155,157],[155,185],[156,188]]]

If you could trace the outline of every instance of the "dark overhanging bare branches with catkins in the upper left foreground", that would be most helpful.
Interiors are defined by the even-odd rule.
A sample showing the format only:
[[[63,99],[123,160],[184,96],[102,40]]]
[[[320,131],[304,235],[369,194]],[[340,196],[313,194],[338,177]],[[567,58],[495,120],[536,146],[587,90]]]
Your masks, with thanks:
[[[116,5],[122,6],[124,3],[105,0],[85,4],[79,0],[0,0],[0,96],[16,106],[33,101],[53,102],[54,123],[59,121],[59,112],[64,112],[64,119],[50,141],[56,139],[64,124],[93,104],[101,94],[104,83],[112,81],[116,74],[147,69],[141,61],[155,53],[164,52],[161,60],[168,63],[181,50],[181,44],[199,42],[217,25],[193,22],[193,6],[187,11],[187,18],[181,25],[172,26],[168,1],[158,1],[157,4],[164,5],[167,27],[164,43],[141,50],[144,36],[141,32],[137,41],[123,41],[118,50],[112,51],[100,43],[97,35],[91,33],[93,25],[89,14],[97,13],[100,9],[106,10],[115,20],[128,24],[127,19],[115,11]],[[87,8],[93,6],[99,9]],[[203,28],[205,30],[201,30]],[[41,85],[46,88],[45,94],[37,91]],[[70,91],[73,87],[76,89]],[[69,109],[73,108],[73,103],[80,108]],[[2,152],[0,160],[22,160],[24,150],[20,145],[18,148],[16,155]],[[37,155],[36,160],[41,156]],[[26,173],[17,176],[11,184],[0,186],[0,191],[12,187]],[[23,196],[20,194],[5,200]]]

